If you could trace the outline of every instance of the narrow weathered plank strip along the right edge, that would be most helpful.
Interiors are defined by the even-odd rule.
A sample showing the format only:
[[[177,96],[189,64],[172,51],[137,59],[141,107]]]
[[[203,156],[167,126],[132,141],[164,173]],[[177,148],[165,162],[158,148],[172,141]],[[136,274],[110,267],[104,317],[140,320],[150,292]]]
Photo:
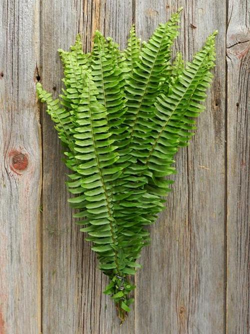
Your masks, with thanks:
[[[227,47],[227,333],[250,332],[250,6],[229,1]]]

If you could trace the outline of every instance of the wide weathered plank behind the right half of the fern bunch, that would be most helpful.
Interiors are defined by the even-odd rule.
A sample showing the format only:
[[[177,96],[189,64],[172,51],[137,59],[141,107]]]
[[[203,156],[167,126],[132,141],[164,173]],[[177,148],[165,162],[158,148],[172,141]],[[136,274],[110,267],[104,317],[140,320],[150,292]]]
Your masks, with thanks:
[[[177,49],[184,58],[190,60],[215,29],[217,53],[224,55],[225,2],[136,1],[138,35],[148,38],[181,5]],[[151,228],[144,269],[136,276],[136,332],[223,331],[224,73],[222,56],[196,136],[176,156],[178,175],[166,210]]]

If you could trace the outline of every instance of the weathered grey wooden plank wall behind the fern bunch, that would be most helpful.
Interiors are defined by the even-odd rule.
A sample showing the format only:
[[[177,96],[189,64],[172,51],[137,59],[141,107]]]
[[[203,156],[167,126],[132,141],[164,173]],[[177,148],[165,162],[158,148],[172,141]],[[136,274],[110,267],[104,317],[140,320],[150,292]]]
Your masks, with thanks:
[[[58,95],[57,49],[76,33],[85,50],[96,29],[124,48],[132,23],[147,39],[180,6],[176,49],[190,60],[217,29],[217,66],[120,327],[74,225],[60,143],[35,84]],[[249,12],[247,0],[1,0],[0,334],[250,332]]]

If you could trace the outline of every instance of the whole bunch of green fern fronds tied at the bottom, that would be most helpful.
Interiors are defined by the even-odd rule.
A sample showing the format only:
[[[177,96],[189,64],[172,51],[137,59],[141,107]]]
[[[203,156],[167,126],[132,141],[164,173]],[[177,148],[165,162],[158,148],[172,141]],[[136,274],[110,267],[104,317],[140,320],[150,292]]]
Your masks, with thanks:
[[[179,12],[147,43],[132,27],[123,52],[96,32],[92,52],[84,54],[77,36],[70,52],[59,50],[60,99],[37,84],[72,171],[66,184],[75,196],[68,201],[110,278],[104,293],[121,321],[133,301],[128,275],[140,267],[136,260],[149,242],[145,227],[164,208],[162,196],[172,183],[165,176],[175,173],[173,156],[193,135],[212,78],[216,32],[191,63],[184,65],[180,54],[171,62]]]

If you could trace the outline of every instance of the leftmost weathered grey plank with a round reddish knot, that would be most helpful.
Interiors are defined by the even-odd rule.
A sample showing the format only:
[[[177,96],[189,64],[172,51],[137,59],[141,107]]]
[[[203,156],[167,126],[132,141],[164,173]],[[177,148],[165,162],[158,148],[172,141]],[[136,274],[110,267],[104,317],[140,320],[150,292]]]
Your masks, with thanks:
[[[0,334],[39,333],[39,1],[0,2]]]

